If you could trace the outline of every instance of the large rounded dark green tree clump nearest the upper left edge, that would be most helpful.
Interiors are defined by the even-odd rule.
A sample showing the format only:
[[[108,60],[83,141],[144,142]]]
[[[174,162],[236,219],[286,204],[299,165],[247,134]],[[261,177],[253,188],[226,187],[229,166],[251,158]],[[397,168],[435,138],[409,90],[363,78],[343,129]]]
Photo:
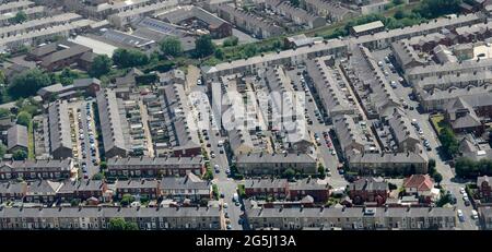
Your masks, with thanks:
[[[39,88],[51,84],[49,75],[39,69],[23,71],[12,77],[8,91],[13,98],[36,95]]]

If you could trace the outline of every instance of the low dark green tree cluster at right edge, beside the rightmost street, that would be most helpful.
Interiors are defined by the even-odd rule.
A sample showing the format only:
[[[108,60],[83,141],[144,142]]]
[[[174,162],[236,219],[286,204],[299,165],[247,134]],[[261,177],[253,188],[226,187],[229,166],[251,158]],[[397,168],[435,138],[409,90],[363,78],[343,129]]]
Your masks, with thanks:
[[[484,158],[476,161],[468,157],[459,157],[455,161],[455,171],[461,178],[492,176],[492,159]]]

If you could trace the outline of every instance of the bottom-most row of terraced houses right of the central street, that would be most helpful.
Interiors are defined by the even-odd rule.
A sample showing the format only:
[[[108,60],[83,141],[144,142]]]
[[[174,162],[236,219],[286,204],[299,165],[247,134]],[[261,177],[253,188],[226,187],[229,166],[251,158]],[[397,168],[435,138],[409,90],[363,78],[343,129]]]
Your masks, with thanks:
[[[457,224],[455,211],[443,207],[250,208],[246,212],[253,229],[450,230]]]

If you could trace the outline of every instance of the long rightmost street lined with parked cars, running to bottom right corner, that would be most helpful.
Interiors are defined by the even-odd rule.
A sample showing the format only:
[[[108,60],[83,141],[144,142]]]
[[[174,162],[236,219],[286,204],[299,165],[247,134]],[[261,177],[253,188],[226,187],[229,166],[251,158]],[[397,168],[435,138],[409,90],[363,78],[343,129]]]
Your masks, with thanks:
[[[377,61],[384,61],[385,56],[389,53],[389,49],[386,50],[379,50],[374,51],[374,58]],[[429,113],[420,111],[419,103],[417,100],[411,100],[409,95],[412,92],[411,86],[403,86],[399,84],[398,79],[400,75],[398,73],[391,73],[391,71],[388,68],[387,63],[384,63],[384,70],[386,70],[388,74],[388,81],[395,81],[397,82],[397,88],[395,88],[395,94],[397,94],[400,98],[403,99],[405,103],[409,105],[409,107],[414,107],[415,109],[410,110],[407,109],[407,115],[410,119],[417,119],[420,128],[423,131],[423,134],[425,139],[430,142],[432,151],[426,152],[427,156],[436,161],[436,170],[443,176],[443,181],[441,182],[441,185],[443,189],[450,191],[457,199],[457,204],[454,205],[456,209],[461,209],[465,215],[465,221],[458,223],[457,227],[459,229],[465,230],[476,230],[478,229],[478,220],[473,220],[471,218],[471,211],[473,209],[472,206],[466,206],[465,201],[462,200],[462,195],[459,193],[460,188],[465,188],[465,182],[458,182],[454,179],[455,173],[450,166],[446,164],[443,158],[438,154],[438,146],[441,146],[441,143],[437,139],[437,134],[434,131],[434,129],[431,125],[431,122],[429,121]]]

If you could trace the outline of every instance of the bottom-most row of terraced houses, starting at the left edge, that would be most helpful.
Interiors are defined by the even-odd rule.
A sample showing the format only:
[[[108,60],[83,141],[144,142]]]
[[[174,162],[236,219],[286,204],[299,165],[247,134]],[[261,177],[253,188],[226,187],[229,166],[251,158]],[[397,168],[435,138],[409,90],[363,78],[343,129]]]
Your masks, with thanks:
[[[49,207],[0,206],[0,230],[109,228],[112,218],[136,223],[141,230],[220,229],[218,207]]]

